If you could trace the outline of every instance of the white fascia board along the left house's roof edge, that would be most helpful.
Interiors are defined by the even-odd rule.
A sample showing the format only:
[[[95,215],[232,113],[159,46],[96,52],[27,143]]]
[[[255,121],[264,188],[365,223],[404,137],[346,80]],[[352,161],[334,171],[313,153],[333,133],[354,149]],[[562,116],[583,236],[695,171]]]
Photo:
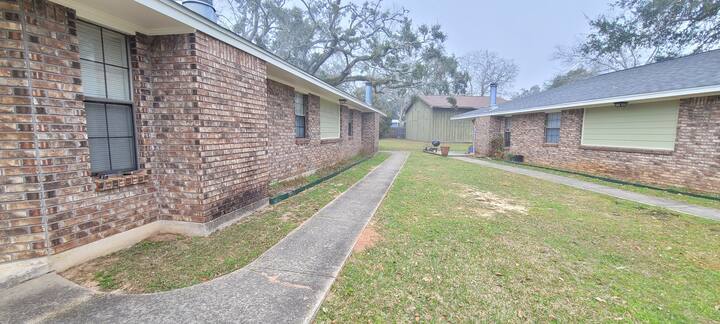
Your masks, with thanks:
[[[347,104],[356,106],[360,110],[375,112],[381,116],[386,116],[381,111],[365,104],[357,98],[341,91],[320,79],[312,76],[311,74],[283,61],[281,58],[274,54],[257,47],[250,41],[236,35],[235,33],[221,27],[220,25],[208,20],[207,18],[195,13],[194,11],[186,8],[185,6],[173,1],[173,0],[135,0],[135,2],[142,4],[152,10],[160,12],[170,18],[180,21],[198,31],[206,33],[214,38],[217,38],[227,44],[234,46],[250,55],[253,55],[268,64],[276,66],[278,69],[287,71],[297,76],[298,78],[309,82],[321,89],[333,93],[341,98],[346,99]]]

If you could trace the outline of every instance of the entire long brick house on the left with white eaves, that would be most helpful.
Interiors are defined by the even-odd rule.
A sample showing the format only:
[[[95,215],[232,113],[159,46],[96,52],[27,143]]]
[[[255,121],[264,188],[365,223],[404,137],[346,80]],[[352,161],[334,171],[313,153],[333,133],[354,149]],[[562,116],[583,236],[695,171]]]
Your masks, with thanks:
[[[380,112],[172,0],[1,0],[0,286],[378,148]]]

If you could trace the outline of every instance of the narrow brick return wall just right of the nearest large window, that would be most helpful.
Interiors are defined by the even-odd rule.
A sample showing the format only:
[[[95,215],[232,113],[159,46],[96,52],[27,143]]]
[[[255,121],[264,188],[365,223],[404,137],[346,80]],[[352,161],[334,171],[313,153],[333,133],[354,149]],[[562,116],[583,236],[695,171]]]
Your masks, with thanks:
[[[133,78],[147,79],[143,86],[149,92],[138,109],[144,118],[136,123],[140,147],[148,148],[147,153],[140,156],[158,181],[160,216],[201,222],[204,220],[199,132],[202,112],[197,103],[195,36],[139,36],[136,39],[144,40],[141,43],[145,48],[138,50],[136,59],[145,62],[145,69],[134,70]]]

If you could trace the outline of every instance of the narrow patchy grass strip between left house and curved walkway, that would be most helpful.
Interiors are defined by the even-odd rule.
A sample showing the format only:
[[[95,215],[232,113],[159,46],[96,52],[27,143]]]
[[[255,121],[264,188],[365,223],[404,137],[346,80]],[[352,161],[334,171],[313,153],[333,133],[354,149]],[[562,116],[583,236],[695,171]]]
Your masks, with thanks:
[[[387,158],[377,154],[338,176],[209,237],[163,234],[64,272],[103,291],[148,293],[191,286],[250,263]]]

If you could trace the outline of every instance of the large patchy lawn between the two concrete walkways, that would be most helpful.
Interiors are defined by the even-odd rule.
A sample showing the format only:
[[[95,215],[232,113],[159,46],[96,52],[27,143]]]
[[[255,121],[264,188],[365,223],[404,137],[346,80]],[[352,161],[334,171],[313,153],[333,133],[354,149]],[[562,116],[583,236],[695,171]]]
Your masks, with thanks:
[[[717,322],[720,223],[413,153],[318,322]]]

